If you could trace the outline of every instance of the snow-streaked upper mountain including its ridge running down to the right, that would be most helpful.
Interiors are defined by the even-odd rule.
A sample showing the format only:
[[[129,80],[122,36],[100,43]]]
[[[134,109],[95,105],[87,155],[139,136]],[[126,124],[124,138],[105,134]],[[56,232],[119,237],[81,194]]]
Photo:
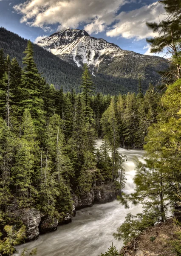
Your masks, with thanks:
[[[122,50],[116,44],[93,38],[85,30],[80,29],[61,29],[39,41],[38,45],[77,67],[83,67],[87,63],[93,76],[96,76],[96,72],[100,69],[106,70],[110,64],[113,70],[117,69],[116,74],[120,73],[121,77],[129,76],[127,71],[122,71],[127,70],[129,61],[136,60],[137,66],[141,62],[152,63],[153,59],[157,58]],[[120,61],[122,61],[122,67],[120,67]]]

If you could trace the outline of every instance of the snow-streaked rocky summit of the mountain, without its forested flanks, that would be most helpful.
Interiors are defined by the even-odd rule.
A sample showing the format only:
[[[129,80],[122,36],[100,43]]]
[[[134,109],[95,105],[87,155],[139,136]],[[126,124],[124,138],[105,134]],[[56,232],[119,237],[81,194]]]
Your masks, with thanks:
[[[65,61],[76,63],[78,67],[82,67],[84,63],[95,67],[103,60],[103,56],[113,58],[127,52],[104,39],[91,37],[85,30],[70,28],[55,32],[39,41],[38,45]]]

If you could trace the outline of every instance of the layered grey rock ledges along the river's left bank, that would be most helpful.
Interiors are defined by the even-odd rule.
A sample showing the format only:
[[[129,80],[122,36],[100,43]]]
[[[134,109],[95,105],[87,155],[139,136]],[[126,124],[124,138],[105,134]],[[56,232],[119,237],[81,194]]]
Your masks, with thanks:
[[[25,241],[31,241],[37,239],[39,234],[57,230],[58,225],[70,223],[72,221],[72,216],[75,216],[76,214],[76,210],[91,207],[93,204],[111,202],[116,199],[118,194],[119,191],[115,189],[113,184],[106,184],[104,186],[96,186],[91,189],[91,192],[80,197],[72,195],[73,210],[71,213],[67,213],[61,222],[59,222],[57,218],[51,218],[51,216],[45,215],[35,208],[19,209],[16,202],[11,204],[8,212],[11,218],[22,221],[26,226]]]

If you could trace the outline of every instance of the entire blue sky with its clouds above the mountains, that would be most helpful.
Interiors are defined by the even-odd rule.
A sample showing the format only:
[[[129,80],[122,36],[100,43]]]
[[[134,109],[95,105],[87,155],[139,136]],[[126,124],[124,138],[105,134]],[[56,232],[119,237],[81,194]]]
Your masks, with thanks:
[[[146,38],[154,35],[145,22],[158,22],[162,12],[156,0],[0,0],[0,26],[31,41],[61,28],[85,29],[122,49],[149,54]]]

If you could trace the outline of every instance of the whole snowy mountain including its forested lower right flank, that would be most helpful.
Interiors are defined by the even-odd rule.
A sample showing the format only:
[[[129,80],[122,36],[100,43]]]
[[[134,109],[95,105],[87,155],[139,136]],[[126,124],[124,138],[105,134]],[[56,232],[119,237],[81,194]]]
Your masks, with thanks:
[[[161,79],[158,71],[167,69],[169,62],[156,56],[122,50],[79,29],[57,31],[39,41],[38,45],[78,67],[87,63],[93,76],[119,84],[126,88],[126,92],[136,92],[140,75],[144,92],[149,83],[155,86]]]

